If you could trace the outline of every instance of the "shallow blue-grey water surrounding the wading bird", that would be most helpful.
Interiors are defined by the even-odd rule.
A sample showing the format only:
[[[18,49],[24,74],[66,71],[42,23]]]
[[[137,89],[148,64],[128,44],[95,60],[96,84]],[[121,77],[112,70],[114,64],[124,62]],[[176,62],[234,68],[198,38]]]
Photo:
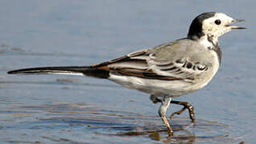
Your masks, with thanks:
[[[232,3],[1,1],[1,143],[254,143],[256,3]],[[244,18],[239,26],[249,29],[220,38],[222,66],[209,86],[175,99],[195,106],[196,122],[175,115],[171,138],[147,94],[94,78],[6,74],[89,65],[183,38],[204,11]]]

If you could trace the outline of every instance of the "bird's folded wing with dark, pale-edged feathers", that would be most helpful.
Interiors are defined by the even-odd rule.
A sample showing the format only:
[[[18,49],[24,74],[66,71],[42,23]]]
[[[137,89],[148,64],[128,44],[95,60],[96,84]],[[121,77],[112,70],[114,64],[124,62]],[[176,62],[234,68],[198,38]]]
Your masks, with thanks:
[[[139,78],[162,80],[193,80],[196,74],[208,70],[208,66],[200,62],[191,62],[189,58],[156,60],[155,54],[149,50],[139,50],[109,62],[93,65],[99,70],[109,70],[114,74]]]

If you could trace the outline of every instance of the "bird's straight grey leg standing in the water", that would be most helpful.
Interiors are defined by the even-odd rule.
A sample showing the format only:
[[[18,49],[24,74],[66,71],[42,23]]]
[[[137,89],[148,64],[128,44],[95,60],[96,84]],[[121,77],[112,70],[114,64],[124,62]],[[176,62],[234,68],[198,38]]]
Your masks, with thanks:
[[[170,105],[170,102],[171,102],[171,96],[167,95],[163,97],[161,106],[159,107],[159,117],[162,119],[165,126],[167,126],[168,134],[171,136],[173,134],[173,131],[171,129],[169,122],[167,121],[167,118],[165,117],[165,114],[168,106]]]

